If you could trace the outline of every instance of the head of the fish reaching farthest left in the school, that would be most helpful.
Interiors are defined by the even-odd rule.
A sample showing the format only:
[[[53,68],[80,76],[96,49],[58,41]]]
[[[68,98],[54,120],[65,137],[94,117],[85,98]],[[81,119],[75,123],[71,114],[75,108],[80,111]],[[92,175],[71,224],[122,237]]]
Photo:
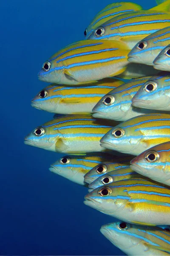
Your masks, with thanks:
[[[54,131],[51,127],[51,122],[47,122],[31,131],[31,133],[25,137],[24,143],[37,148],[55,151],[57,138],[59,138],[59,133]]]

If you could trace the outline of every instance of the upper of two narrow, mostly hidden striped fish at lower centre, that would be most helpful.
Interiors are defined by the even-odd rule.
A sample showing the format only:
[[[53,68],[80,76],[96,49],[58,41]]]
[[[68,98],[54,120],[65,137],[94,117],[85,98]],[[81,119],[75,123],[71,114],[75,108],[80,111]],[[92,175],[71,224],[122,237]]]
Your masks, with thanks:
[[[101,178],[102,175],[108,174],[108,172],[115,171],[117,169],[126,168],[130,165],[130,161],[133,159],[130,155],[113,156],[110,163],[101,163],[96,165],[84,176],[86,183],[92,183],[97,178]]]

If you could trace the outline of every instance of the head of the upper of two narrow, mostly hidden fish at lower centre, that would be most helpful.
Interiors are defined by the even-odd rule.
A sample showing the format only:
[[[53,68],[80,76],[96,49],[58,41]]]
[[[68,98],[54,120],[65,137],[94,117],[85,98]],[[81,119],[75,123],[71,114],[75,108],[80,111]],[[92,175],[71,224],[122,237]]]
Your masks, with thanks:
[[[100,178],[103,174],[108,172],[108,165],[105,163],[98,164],[94,168],[92,168],[88,173],[85,174],[84,179],[86,183],[91,183],[96,180],[98,177]]]

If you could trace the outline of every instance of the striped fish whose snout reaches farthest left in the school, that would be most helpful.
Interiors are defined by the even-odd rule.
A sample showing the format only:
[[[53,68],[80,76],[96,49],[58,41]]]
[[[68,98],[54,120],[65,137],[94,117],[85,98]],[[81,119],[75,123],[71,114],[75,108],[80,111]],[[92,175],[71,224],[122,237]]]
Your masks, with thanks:
[[[101,137],[114,126],[113,121],[92,116],[61,116],[38,126],[25,137],[25,144],[65,154],[100,152]]]

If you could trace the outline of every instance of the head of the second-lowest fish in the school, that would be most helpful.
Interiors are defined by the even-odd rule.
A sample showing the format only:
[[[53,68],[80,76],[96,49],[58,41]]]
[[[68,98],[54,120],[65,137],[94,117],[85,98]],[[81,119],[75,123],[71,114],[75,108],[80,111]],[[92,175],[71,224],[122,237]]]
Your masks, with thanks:
[[[113,186],[112,186],[113,185]],[[127,192],[123,192],[127,195]],[[84,204],[108,215],[113,215],[119,209],[123,209],[127,203],[127,197],[119,197],[119,188],[113,183],[109,186],[101,186],[85,195]]]

